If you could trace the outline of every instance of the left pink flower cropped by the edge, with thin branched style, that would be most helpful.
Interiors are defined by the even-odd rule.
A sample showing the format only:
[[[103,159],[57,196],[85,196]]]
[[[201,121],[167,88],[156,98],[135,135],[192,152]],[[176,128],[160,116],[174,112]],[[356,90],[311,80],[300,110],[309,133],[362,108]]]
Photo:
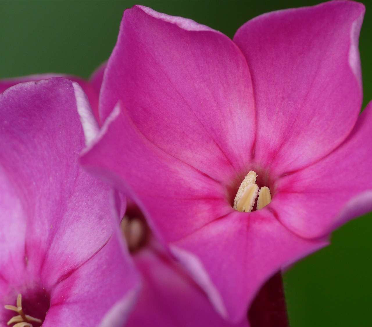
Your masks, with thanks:
[[[52,78],[7,89],[0,108],[0,326],[121,327],[138,277],[111,189],[78,164],[86,96]]]

